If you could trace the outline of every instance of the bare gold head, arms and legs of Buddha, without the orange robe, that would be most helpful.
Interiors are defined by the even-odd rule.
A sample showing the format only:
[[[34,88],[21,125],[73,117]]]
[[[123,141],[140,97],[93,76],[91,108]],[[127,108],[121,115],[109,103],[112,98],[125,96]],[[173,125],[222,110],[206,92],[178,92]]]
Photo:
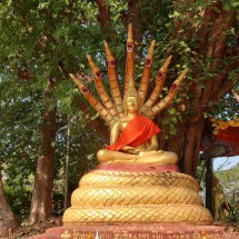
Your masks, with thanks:
[[[137,91],[130,84],[125,98],[126,116],[117,120],[110,131],[110,145],[117,142],[123,133],[128,123],[139,114],[140,99]],[[145,132],[142,132],[145,133]],[[121,152],[122,151],[122,152]],[[158,150],[158,139],[155,136],[136,147],[125,146],[121,151],[108,149],[100,150],[97,156],[100,162],[123,162],[123,163],[165,163],[176,165],[178,156],[175,152]]]

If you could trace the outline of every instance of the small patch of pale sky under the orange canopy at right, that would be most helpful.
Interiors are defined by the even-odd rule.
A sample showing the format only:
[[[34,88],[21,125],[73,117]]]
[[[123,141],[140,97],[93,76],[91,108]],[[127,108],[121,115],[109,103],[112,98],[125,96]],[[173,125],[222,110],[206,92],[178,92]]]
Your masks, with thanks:
[[[237,163],[239,163],[239,156],[219,157],[213,159],[213,169],[215,171],[226,170],[232,168]]]

